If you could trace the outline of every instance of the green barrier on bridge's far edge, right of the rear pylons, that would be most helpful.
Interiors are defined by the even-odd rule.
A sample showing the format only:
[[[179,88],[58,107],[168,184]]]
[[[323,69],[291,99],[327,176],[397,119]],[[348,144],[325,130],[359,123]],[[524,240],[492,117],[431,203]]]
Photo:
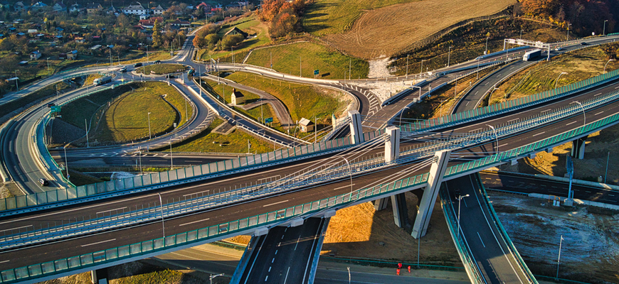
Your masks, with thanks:
[[[533,104],[539,104],[541,102],[548,102],[549,100],[552,100],[552,99],[566,97],[570,94],[581,92],[585,89],[589,89],[591,87],[596,87],[606,82],[617,80],[618,77],[619,77],[619,70],[613,70],[611,72],[598,75],[596,77],[592,77],[587,80],[575,82],[573,84],[568,84],[566,86],[559,87],[556,89],[551,89],[549,91],[544,91],[544,92],[537,93],[537,94],[531,94],[530,96],[527,96],[527,97],[513,99],[513,100],[506,101],[506,102],[501,102],[499,104],[492,104],[487,107],[472,109],[470,111],[462,111],[462,112],[458,112],[456,114],[451,114],[448,116],[441,116],[435,119],[430,119],[430,120],[425,120],[425,121],[416,121],[411,124],[404,124],[403,126],[401,126],[401,130],[409,131],[409,132],[416,132],[416,131],[421,131],[421,130],[430,131],[438,127],[461,124],[463,122],[473,121],[475,119],[480,119],[482,117],[494,116],[494,115],[502,114],[508,111],[523,109]]]

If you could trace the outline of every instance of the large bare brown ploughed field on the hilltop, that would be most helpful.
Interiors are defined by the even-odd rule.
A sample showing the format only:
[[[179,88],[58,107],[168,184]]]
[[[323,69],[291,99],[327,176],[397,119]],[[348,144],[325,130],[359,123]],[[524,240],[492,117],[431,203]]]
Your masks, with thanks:
[[[324,39],[355,57],[381,58],[455,23],[492,15],[514,3],[514,0],[427,0],[392,5],[364,13],[349,31],[325,35]]]

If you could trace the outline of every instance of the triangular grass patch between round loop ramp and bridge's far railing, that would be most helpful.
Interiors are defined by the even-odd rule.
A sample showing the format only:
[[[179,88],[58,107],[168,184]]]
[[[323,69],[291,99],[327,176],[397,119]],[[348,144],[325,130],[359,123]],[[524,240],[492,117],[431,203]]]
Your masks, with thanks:
[[[213,133],[213,129],[223,123],[221,119],[213,120],[200,134],[185,141],[172,144],[172,151],[177,152],[198,152],[198,153],[248,153],[247,142],[251,143],[251,153],[266,153],[273,151],[273,144],[259,140],[250,136],[248,133],[234,130],[228,135]],[[167,148],[169,149],[169,148]],[[166,151],[166,148],[159,149]]]

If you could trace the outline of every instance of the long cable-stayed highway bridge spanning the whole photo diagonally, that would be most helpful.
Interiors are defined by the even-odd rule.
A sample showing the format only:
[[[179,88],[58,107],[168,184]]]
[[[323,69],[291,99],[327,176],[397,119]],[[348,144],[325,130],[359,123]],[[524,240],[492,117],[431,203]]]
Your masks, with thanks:
[[[6,218],[6,221],[2,224],[3,229],[14,228],[16,224],[20,224],[19,222],[25,222],[23,224],[30,224],[39,229],[42,226],[45,228],[44,219],[50,218],[48,214],[53,214],[54,219],[60,220],[78,218],[78,222],[68,224],[74,227],[85,226],[85,221],[88,219],[85,216],[97,215],[97,213],[110,219],[112,217],[109,215],[110,212],[118,212],[118,214],[113,214],[112,219],[122,219],[127,215],[129,218],[134,218],[140,212],[144,212],[144,216],[151,214],[151,217],[161,217],[163,215],[164,220],[159,222],[152,219],[137,225],[125,224],[86,236],[79,235],[66,238],[68,235],[63,235],[61,240],[56,237],[37,246],[27,245],[18,249],[9,249],[2,253],[5,259],[10,261],[1,263],[2,271],[0,273],[4,283],[18,281],[28,283],[27,281],[57,278],[78,271],[89,271],[115,263],[132,261],[166,251],[224,239],[236,234],[259,235],[260,231],[268,231],[268,228],[273,226],[285,225],[287,222],[299,222],[299,220],[294,221],[298,218],[329,216],[334,210],[342,207],[421,189],[428,187],[430,183],[440,184],[442,181],[460,178],[501,163],[512,163],[518,158],[534,155],[539,151],[546,151],[553,146],[573,141],[588,135],[588,133],[616,124],[619,120],[616,114],[619,111],[614,104],[608,104],[608,102],[614,102],[613,97],[596,95],[598,92],[610,92],[608,96],[613,96],[615,95],[612,92],[613,90],[614,85],[601,85],[580,94],[579,99],[583,102],[582,108],[580,105],[571,104],[571,99],[562,99],[546,104],[543,107],[544,109],[551,106],[554,111],[544,111],[544,116],[536,115],[541,111],[540,107],[529,107],[529,109],[513,111],[509,115],[484,117],[479,121],[462,124],[462,126],[452,126],[455,128],[443,132],[423,133],[425,140],[434,142],[428,142],[425,145],[419,145],[415,141],[405,142],[411,144],[403,145],[401,155],[398,155],[397,158],[395,153],[393,154],[394,156],[391,157],[395,158],[392,160],[393,163],[389,164],[389,162],[383,161],[386,164],[383,168],[380,168],[379,163],[376,163],[376,153],[386,153],[380,148],[387,136],[384,133],[365,133],[364,140],[368,140],[366,143],[359,144],[359,147],[352,147],[350,142],[354,140],[351,139],[348,145],[351,147],[347,148],[361,148],[364,152],[349,150],[344,154],[336,154],[337,157],[342,156],[343,158],[354,158],[357,155],[356,160],[351,160],[353,162],[350,163],[351,168],[348,167],[349,163],[344,166],[343,161],[340,161],[329,172],[329,175],[335,177],[334,180],[318,180],[324,178],[324,176],[312,174],[312,177],[316,177],[314,180],[318,182],[309,185],[312,179],[302,178],[302,190],[293,188],[280,192],[273,191],[273,188],[269,189],[270,192],[254,190],[253,193],[257,193],[257,195],[251,197],[253,198],[251,200],[241,199],[245,198],[245,194],[239,190],[246,190],[246,188],[237,188],[236,190],[228,188],[219,191],[217,195],[212,195],[212,191],[221,188],[222,185],[239,185],[245,181],[257,180],[265,175],[273,175],[276,171],[282,173],[282,166],[272,165],[273,168],[261,168],[260,170],[239,173],[238,178],[231,175],[220,175],[207,180],[206,183],[179,183],[179,185],[167,186],[166,190],[160,192],[157,192],[159,190],[143,193],[133,191],[133,195],[118,196],[111,200],[91,200],[88,204],[50,208],[51,211],[45,213],[32,212],[26,215],[27,220],[23,219],[23,215]],[[585,102],[583,99],[592,100]],[[581,116],[582,109],[585,110],[588,124],[583,125],[585,121]],[[601,114],[605,114],[605,116]],[[536,116],[533,119],[524,119],[527,116],[534,115]],[[519,126],[509,123],[513,117],[521,117]],[[483,132],[473,131],[485,124],[492,124],[497,128],[495,131],[490,131],[487,127]],[[500,126],[502,124],[504,125]],[[403,129],[406,129],[406,127],[403,127]],[[396,130],[391,129],[391,131]],[[472,134],[463,135],[462,133]],[[374,136],[374,139],[371,139],[371,136]],[[393,136],[396,135],[392,132],[389,141]],[[450,138],[452,136],[453,138]],[[497,141],[495,142],[495,140]],[[507,145],[505,145],[506,143]],[[374,148],[371,148],[372,145]],[[407,148],[410,146],[413,146],[413,148]],[[497,146],[501,148],[498,153],[495,152]],[[320,147],[317,146],[314,150]],[[432,182],[433,178],[440,177],[440,175],[433,175],[430,172],[430,164],[438,165],[437,160],[440,160],[438,159],[440,157],[432,158],[433,155],[431,154],[443,150],[453,151],[452,158],[444,164],[445,174],[443,179]],[[307,151],[307,147],[305,151]],[[408,158],[410,160],[407,160],[407,155],[416,158]],[[281,158],[285,155],[265,155],[268,158],[275,158],[275,156]],[[379,157],[378,160],[383,160],[385,156]],[[252,158],[246,159],[243,160],[245,165]],[[312,173],[316,173],[317,165],[332,162],[334,156],[330,153],[319,157],[314,156],[312,159],[306,161],[308,163],[313,161],[314,168],[310,168],[307,163],[299,163],[300,160],[295,160],[297,168],[291,168],[290,165],[283,168],[288,173],[297,173],[305,168],[314,169]],[[446,158],[443,158],[443,160],[447,162]],[[226,165],[226,163],[221,165]],[[231,162],[230,165],[234,165],[234,162]],[[237,165],[240,165],[240,163]],[[352,170],[352,168],[355,170]],[[324,169],[321,168],[317,171]],[[305,170],[307,172],[307,169]],[[369,171],[362,172],[362,170]],[[354,175],[352,182],[348,180],[348,173]],[[300,181],[300,176],[292,175],[293,180],[296,178],[295,182]],[[278,180],[278,182],[280,182],[280,185],[295,183],[290,180],[285,180],[287,183],[283,184],[282,180]],[[163,195],[162,198],[165,200],[173,198],[174,201],[165,204],[164,208],[163,204],[158,202],[160,195]],[[197,198],[202,196],[208,197],[208,199],[199,200]],[[213,200],[218,203],[208,203],[213,202]],[[181,204],[181,202],[184,202],[184,204]],[[142,210],[142,208],[137,207],[138,204],[150,204],[150,206],[146,205]],[[195,208],[187,211],[187,206],[194,206]],[[202,207],[199,208],[199,206]],[[32,209],[31,207],[26,208]],[[102,210],[103,208],[112,208],[112,210],[105,212],[105,210]],[[122,211],[125,212],[121,213]],[[83,217],[85,221],[80,222],[80,217]],[[100,221],[97,219],[97,222]],[[110,220],[105,222],[110,222]],[[65,234],[67,229],[69,228],[64,228],[65,231],[62,234]],[[423,231],[423,229],[418,231]],[[41,234],[43,231],[28,231],[28,234],[31,233]],[[19,238],[27,237],[25,234],[22,235]]]

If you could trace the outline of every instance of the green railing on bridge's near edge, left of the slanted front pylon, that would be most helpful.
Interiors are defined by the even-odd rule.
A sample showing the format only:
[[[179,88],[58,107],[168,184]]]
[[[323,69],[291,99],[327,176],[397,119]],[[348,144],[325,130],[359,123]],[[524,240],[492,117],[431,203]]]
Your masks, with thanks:
[[[16,283],[25,280],[43,278],[46,276],[61,275],[79,270],[92,270],[110,266],[110,263],[122,263],[123,260],[147,258],[156,256],[163,251],[206,244],[213,239],[221,239],[236,232],[248,231],[268,225],[285,222],[293,217],[307,214],[317,214],[331,207],[341,207],[352,202],[372,200],[375,195],[383,195],[386,192],[404,190],[408,187],[423,185],[428,181],[428,173],[414,175],[410,178],[388,182],[374,187],[354,190],[343,195],[324,198],[314,202],[307,202],[294,207],[287,207],[252,217],[238,219],[231,222],[207,226],[201,229],[172,234],[162,238],[142,241],[126,246],[117,246],[93,253],[85,253],[79,256],[61,258],[45,263],[36,263],[30,266],[7,269],[0,271],[0,283]]]

